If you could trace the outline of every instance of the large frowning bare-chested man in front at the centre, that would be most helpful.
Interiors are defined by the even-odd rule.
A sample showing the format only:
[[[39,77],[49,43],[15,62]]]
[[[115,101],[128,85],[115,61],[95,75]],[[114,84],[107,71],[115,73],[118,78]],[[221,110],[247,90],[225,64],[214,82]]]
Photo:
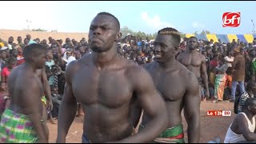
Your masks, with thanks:
[[[114,15],[99,13],[90,24],[86,54],[66,68],[66,86],[58,114],[57,142],[66,134],[81,102],[86,113],[82,142],[150,142],[166,129],[165,102],[150,74],[117,53],[120,24]],[[134,109],[138,102],[141,109]],[[138,114],[150,115],[144,130],[133,134]],[[134,122],[137,122],[136,124]]]

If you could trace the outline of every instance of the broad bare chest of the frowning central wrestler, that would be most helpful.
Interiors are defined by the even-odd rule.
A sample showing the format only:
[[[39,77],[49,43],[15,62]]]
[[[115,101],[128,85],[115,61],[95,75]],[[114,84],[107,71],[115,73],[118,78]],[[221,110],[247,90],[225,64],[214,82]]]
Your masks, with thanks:
[[[90,106],[101,104],[118,108],[132,97],[125,70],[97,70],[94,67],[78,70],[72,83],[74,97]]]

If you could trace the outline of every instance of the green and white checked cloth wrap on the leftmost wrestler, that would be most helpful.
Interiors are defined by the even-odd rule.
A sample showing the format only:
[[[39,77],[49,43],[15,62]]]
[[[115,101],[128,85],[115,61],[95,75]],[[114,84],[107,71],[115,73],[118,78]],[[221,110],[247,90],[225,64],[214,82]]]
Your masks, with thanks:
[[[0,122],[0,140],[5,143],[35,143],[38,134],[28,116],[6,109]]]

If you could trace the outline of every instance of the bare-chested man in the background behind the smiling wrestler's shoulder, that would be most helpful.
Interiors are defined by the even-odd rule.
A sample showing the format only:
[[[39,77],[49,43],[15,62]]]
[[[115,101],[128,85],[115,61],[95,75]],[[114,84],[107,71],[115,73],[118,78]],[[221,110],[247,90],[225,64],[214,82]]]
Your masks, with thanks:
[[[186,66],[188,70],[193,72],[198,78],[200,85],[203,84],[206,90],[206,98],[210,98],[209,86],[208,86],[208,75],[206,69],[206,57],[198,52],[198,38],[190,37],[187,42],[188,50],[178,55],[178,62]],[[202,86],[199,86],[199,96],[202,97]],[[205,98],[205,99],[206,99]],[[203,99],[203,98],[202,98]]]

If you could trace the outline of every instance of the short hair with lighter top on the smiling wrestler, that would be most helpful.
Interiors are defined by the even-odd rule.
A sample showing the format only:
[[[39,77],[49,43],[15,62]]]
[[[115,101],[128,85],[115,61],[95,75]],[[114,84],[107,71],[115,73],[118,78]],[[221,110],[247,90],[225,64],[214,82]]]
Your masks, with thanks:
[[[172,28],[172,27],[166,27],[163,28],[162,30],[158,31],[158,34],[166,34],[166,35],[171,35],[175,42],[177,42],[178,44],[181,42],[181,35],[178,32],[178,30]]]

